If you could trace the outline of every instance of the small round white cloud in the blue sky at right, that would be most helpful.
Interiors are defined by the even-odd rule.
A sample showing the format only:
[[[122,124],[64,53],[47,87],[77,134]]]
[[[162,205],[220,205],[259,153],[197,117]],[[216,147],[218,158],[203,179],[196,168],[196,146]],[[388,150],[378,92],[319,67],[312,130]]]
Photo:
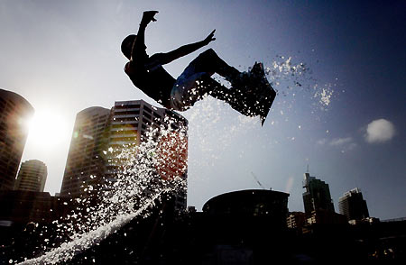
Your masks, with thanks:
[[[393,138],[395,133],[395,127],[390,121],[385,119],[374,120],[366,127],[365,141],[370,143],[387,142]]]

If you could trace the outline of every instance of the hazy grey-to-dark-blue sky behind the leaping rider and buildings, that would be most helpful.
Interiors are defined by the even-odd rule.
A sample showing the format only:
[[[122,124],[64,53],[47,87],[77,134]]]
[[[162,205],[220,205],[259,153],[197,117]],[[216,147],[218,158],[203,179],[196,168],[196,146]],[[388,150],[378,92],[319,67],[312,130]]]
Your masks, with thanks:
[[[36,111],[23,160],[48,167],[60,191],[79,111],[143,99],[123,68],[121,41],[144,10],[147,52],[203,40],[208,47],[165,66],[175,78],[206,48],[245,71],[262,61],[278,90],[263,127],[207,98],[189,119],[188,205],[246,188],[290,193],[303,211],[303,174],[338,198],[360,187],[371,216],[406,216],[406,18],[404,1],[0,2],[0,87]]]

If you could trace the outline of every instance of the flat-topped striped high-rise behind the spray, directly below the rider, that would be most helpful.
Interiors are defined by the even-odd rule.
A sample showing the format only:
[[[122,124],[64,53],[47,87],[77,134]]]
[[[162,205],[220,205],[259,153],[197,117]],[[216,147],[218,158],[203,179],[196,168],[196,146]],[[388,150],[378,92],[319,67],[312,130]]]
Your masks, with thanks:
[[[180,114],[155,107],[143,100],[115,102],[108,140],[108,149],[113,151],[109,152],[106,177],[114,181],[115,174],[120,171],[120,161],[116,158],[116,154],[124,146],[139,146],[151,138],[154,142],[158,142],[161,136],[156,149],[161,159],[157,172],[161,178],[178,176],[186,180],[187,126],[188,121]],[[162,130],[166,131],[164,137],[161,135]],[[182,136],[179,136],[179,133]],[[173,143],[177,145],[176,148]],[[186,191],[177,193],[175,207],[186,209]]]

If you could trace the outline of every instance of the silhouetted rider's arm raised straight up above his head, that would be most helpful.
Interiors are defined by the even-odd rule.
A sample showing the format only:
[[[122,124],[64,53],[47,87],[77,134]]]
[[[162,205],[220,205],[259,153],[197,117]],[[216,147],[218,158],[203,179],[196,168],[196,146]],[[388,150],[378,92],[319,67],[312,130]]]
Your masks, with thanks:
[[[134,41],[133,50],[131,51],[131,60],[138,61],[147,58],[145,52],[145,28],[152,21],[156,22],[156,19],[153,16],[157,13],[158,11],[145,11],[143,13],[143,19],[141,20],[140,28],[137,32],[137,38]]]

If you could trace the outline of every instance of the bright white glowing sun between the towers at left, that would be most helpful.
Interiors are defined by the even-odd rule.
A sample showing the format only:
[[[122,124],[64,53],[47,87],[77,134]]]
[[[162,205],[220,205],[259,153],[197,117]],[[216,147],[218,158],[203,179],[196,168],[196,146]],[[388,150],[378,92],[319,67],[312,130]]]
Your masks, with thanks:
[[[42,149],[58,147],[69,139],[66,118],[52,110],[36,111],[29,122],[27,143]]]

